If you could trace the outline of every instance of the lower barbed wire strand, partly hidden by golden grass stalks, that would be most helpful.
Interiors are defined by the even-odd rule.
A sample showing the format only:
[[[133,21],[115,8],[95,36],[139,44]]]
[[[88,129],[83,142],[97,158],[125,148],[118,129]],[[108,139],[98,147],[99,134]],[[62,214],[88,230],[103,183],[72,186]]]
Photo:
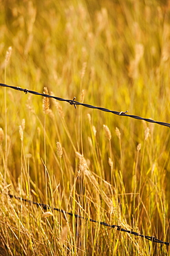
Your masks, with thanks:
[[[37,205],[38,207],[41,207],[44,210],[48,210],[48,209],[56,210],[56,211],[61,212],[63,214],[67,214],[67,215],[70,215],[72,217],[74,216],[78,219],[85,219],[86,221],[91,221],[91,222],[94,222],[94,223],[98,223],[102,226],[107,226],[109,228],[116,228],[118,231],[127,232],[131,235],[136,235],[138,237],[145,238],[149,241],[153,241],[153,242],[158,243],[158,244],[165,244],[167,246],[170,245],[170,243],[167,242],[167,241],[161,241],[160,239],[157,239],[156,237],[153,237],[153,236],[149,237],[148,235],[141,235],[138,232],[134,232],[134,231],[131,231],[131,230],[126,230],[125,228],[121,228],[121,226],[118,226],[118,225],[110,225],[110,224],[108,224],[106,222],[103,222],[103,221],[96,221],[94,219],[82,217],[81,215],[78,215],[78,214],[75,214],[75,213],[72,213],[72,212],[66,212],[65,210],[62,210],[62,209],[59,209],[59,208],[52,208],[50,205],[46,205],[45,203],[37,203],[37,202],[34,202],[34,201],[30,201],[28,199],[23,199],[22,197],[19,197],[19,196],[14,196],[12,194],[8,194],[8,196],[10,196],[10,198],[14,198],[14,199],[17,199],[17,200],[20,200],[20,201],[24,201],[24,202],[27,202],[27,203],[30,203],[30,204]]]

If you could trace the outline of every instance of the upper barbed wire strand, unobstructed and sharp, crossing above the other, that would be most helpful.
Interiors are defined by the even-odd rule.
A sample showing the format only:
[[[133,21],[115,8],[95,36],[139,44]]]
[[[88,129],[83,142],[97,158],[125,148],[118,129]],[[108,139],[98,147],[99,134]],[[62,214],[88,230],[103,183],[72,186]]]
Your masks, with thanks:
[[[12,88],[12,89],[18,90],[18,91],[23,91],[26,94],[27,93],[32,93],[34,95],[41,95],[43,97],[54,98],[55,100],[59,100],[59,101],[63,101],[63,102],[68,102],[71,105],[74,105],[75,109],[76,109],[76,105],[81,105],[81,106],[87,107],[89,109],[98,109],[100,111],[114,113],[115,115],[118,115],[118,116],[128,116],[129,118],[135,118],[135,119],[138,119],[138,120],[145,120],[146,122],[153,122],[153,123],[156,123],[158,125],[163,125],[163,126],[170,127],[170,123],[168,123],[168,122],[158,122],[158,121],[154,121],[154,120],[149,119],[149,118],[142,118],[140,116],[129,115],[129,114],[127,114],[127,111],[120,111],[119,112],[119,111],[113,111],[113,110],[105,109],[103,107],[95,107],[95,106],[90,105],[90,104],[85,104],[85,103],[78,102],[78,101],[75,100],[75,97],[73,98],[73,100],[65,100],[63,98],[59,98],[59,97],[56,97],[56,96],[47,95],[47,94],[43,94],[43,93],[38,93],[37,91],[30,91],[28,89],[23,89],[23,88],[21,88],[19,86],[12,86],[12,85],[1,84],[1,83],[0,83],[0,86]]]

